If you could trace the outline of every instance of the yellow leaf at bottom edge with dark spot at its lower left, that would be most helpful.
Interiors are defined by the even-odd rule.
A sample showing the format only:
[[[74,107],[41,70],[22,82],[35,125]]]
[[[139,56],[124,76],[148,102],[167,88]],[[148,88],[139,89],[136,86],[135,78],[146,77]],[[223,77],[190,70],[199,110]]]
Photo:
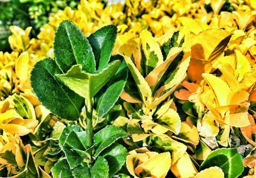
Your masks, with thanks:
[[[163,152],[135,168],[136,175],[164,178],[171,165],[170,152]]]

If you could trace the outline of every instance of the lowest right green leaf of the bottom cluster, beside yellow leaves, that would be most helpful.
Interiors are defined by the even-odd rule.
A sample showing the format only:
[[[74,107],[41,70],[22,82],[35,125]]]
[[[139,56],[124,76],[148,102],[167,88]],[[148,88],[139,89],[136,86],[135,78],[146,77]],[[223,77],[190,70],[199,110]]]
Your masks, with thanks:
[[[118,172],[118,170],[120,170],[120,168],[122,168],[124,165],[127,150],[123,145],[114,143],[105,149],[100,156],[103,156],[108,161],[109,177],[113,177],[113,175],[115,175],[116,172]]]

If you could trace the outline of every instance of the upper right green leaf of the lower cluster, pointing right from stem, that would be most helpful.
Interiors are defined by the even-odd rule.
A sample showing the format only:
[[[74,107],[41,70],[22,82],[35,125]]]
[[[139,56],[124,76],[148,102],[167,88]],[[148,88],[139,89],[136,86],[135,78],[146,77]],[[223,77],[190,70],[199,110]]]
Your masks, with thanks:
[[[100,152],[102,152],[106,147],[109,147],[119,138],[126,137],[127,133],[122,130],[122,128],[118,128],[116,126],[106,126],[102,130],[98,131],[94,137],[94,144],[99,145],[95,151],[95,158],[99,156]]]

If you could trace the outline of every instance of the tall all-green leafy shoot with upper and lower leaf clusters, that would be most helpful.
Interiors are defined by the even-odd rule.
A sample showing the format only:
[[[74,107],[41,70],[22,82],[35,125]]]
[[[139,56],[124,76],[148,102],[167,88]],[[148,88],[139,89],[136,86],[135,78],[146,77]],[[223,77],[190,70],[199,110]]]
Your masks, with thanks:
[[[63,130],[60,147],[65,158],[52,168],[54,177],[112,177],[125,162],[125,147],[114,144],[126,136],[122,128],[107,126],[93,134],[93,117],[106,115],[127,80],[125,63],[111,58],[116,33],[110,25],[85,38],[77,26],[64,20],[56,31],[55,58],[39,61],[31,71],[31,86],[42,105],[63,119],[79,119],[85,129]]]

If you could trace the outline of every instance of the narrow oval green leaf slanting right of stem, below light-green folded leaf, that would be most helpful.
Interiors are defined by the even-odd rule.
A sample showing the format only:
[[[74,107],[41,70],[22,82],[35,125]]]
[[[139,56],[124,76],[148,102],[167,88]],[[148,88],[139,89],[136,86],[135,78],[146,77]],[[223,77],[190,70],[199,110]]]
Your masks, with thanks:
[[[108,89],[106,89],[106,91],[104,91],[100,96],[97,103],[96,110],[98,117],[102,117],[102,115],[106,114],[115,105],[124,89],[127,77],[128,71],[127,68],[124,68],[115,75],[113,80],[111,80],[111,84],[108,85]]]

